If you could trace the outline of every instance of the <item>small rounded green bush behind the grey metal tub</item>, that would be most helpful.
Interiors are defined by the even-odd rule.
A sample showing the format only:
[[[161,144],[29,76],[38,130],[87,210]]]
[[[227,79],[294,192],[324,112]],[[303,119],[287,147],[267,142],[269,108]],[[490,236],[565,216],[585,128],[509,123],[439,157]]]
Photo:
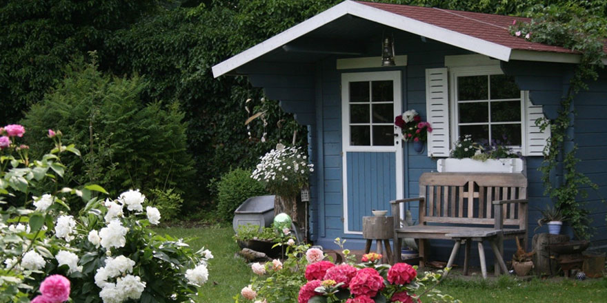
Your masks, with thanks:
[[[234,211],[244,200],[266,194],[263,184],[251,178],[250,171],[234,169],[217,182],[217,213],[224,220],[234,218]]]

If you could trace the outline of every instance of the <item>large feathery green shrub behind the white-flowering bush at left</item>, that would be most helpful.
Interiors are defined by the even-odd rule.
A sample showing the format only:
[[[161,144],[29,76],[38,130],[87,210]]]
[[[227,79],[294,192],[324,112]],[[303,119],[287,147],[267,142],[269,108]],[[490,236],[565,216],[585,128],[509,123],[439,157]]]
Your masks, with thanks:
[[[30,152],[43,154],[40,138],[48,128],[63,129],[83,156],[63,160],[73,169],[62,186],[94,182],[112,196],[125,188],[169,187],[193,195],[184,114],[177,102],[143,105],[145,86],[138,76],[110,77],[94,61],[74,61],[65,79],[23,120]]]

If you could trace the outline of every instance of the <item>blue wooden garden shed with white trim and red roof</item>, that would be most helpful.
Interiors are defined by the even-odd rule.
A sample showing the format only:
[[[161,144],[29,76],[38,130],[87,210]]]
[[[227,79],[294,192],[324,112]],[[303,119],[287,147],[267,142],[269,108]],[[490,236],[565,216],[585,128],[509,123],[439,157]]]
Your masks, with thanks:
[[[248,76],[308,126],[316,168],[309,232],[323,247],[332,247],[336,237],[362,247],[362,217],[372,209],[390,209],[390,200],[418,196],[421,174],[442,171],[464,134],[486,140],[506,136],[508,146],[524,156],[510,170],[528,179],[533,231],[539,209],[551,204],[537,170],[550,132],[536,121],[557,117],[580,55],[511,35],[513,21],[529,19],[344,1],[212,72]],[[382,47],[390,40],[394,63],[382,66]],[[577,144],[578,170],[599,185],[584,202],[597,231],[593,244],[605,245],[600,197],[607,196],[607,73],[601,70],[572,106],[576,115],[570,116],[565,149]],[[404,142],[394,125],[395,116],[408,109],[432,126],[423,151]],[[556,182],[560,169],[553,171]],[[417,218],[417,204],[408,209]],[[506,255],[514,247],[509,244]],[[450,249],[435,253],[445,259]]]

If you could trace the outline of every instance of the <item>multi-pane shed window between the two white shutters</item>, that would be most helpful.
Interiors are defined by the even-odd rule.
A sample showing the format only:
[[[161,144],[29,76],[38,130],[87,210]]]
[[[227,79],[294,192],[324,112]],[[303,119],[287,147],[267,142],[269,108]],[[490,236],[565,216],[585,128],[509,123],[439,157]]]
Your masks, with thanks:
[[[452,70],[453,141],[471,135],[479,143],[497,140],[513,149],[524,143],[524,94],[499,67]]]

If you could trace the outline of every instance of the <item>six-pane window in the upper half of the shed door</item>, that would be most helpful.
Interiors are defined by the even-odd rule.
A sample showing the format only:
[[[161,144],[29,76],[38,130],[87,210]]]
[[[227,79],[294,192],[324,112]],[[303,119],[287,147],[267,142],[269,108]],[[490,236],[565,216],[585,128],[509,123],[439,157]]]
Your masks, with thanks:
[[[394,81],[349,82],[352,146],[393,146]]]

